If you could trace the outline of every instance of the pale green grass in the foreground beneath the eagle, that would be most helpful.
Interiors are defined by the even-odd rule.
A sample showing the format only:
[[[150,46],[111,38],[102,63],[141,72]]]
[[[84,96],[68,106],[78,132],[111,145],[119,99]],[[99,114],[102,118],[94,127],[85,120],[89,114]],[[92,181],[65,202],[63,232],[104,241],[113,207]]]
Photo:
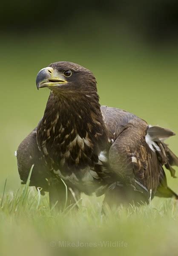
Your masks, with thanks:
[[[28,183],[1,201],[0,255],[175,255],[178,204],[155,199],[149,206],[101,213],[103,197],[82,195],[78,210],[49,209],[48,195]]]

